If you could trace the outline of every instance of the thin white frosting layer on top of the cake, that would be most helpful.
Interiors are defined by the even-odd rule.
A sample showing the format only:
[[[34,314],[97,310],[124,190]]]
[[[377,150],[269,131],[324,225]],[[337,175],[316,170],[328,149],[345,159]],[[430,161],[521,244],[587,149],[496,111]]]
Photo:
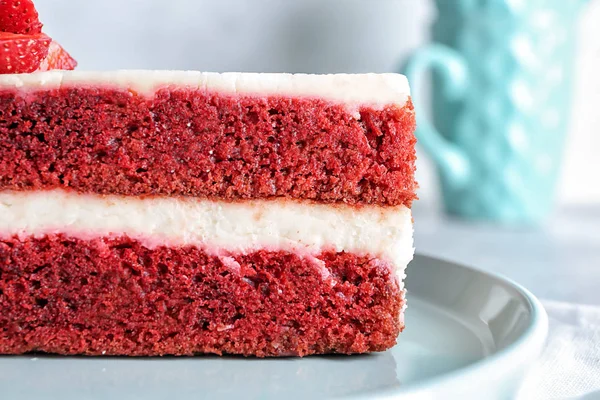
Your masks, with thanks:
[[[177,86],[229,94],[318,97],[344,104],[372,106],[403,106],[410,96],[408,81],[400,74],[309,75],[124,70],[0,75],[0,89],[39,90],[105,85],[132,89],[146,95],[152,95],[157,88]]]

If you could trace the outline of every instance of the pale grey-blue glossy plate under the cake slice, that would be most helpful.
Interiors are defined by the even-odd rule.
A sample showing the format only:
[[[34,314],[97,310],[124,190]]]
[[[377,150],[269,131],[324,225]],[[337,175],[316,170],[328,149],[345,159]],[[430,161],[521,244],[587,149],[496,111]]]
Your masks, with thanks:
[[[5,399],[512,398],[547,331],[505,279],[417,256],[406,330],[385,353],[245,359],[0,357]]]

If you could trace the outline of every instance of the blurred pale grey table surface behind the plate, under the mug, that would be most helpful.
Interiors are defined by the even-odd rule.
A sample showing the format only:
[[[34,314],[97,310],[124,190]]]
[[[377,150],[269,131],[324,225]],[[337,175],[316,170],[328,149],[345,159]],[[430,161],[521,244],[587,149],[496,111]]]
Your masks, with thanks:
[[[538,228],[508,228],[413,207],[418,253],[504,275],[542,300],[600,305],[600,205],[558,209]]]

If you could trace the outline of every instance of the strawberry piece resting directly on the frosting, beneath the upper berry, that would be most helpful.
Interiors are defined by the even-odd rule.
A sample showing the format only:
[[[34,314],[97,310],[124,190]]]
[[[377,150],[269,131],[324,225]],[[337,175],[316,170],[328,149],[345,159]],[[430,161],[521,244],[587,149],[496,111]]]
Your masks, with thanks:
[[[37,70],[48,55],[48,36],[15,35],[0,32],[0,74],[21,74]]]

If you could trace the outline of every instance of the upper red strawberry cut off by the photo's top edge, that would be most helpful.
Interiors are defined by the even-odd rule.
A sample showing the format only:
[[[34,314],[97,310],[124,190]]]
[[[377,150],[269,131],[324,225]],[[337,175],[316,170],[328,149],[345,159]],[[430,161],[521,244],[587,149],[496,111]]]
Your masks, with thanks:
[[[33,0],[0,0],[0,31],[32,35],[42,31]]]

